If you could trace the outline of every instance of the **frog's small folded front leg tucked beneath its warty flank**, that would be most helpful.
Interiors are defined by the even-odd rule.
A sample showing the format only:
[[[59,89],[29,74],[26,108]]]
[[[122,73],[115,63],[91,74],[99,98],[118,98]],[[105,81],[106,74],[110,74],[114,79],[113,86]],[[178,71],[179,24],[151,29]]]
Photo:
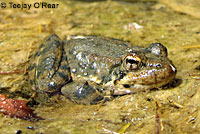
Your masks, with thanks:
[[[78,104],[97,104],[106,101],[105,93],[100,85],[87,81],[75,81],[61,88],[61,93]]]

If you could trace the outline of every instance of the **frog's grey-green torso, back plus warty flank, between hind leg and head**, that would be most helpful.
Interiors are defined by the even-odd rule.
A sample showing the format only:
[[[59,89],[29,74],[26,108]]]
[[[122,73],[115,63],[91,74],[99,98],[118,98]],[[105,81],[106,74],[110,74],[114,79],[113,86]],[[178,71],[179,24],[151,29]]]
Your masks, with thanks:
[[[75,36],[64,41],[72,77],[84,78],[97,83],[104,81],[112,66],[118,65],[121,58],[140,47],[121,40],[99,36]]]

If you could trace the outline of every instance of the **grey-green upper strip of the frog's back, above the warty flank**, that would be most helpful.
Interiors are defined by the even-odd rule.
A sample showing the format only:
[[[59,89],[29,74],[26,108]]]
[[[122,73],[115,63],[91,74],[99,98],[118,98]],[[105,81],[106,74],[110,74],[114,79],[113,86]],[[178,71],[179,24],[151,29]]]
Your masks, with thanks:
[[[84,52],[110,58],[120,58],[132,49],[141,48],[118,39],[100,36],[75,36],[70,40],[65,40],[64,47],[66,52],[73,55]]]

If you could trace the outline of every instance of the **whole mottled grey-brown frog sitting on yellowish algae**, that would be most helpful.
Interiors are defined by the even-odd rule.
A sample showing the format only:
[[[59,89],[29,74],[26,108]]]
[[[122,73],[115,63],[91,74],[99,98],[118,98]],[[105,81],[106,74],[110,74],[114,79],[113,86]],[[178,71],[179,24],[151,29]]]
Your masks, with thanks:
[[[95,35],[61,40],[52,34],[29,59],[29,81],[40,100],[60,94],[78,104],[159,88],[177,73],[161,43],[145,48]]]

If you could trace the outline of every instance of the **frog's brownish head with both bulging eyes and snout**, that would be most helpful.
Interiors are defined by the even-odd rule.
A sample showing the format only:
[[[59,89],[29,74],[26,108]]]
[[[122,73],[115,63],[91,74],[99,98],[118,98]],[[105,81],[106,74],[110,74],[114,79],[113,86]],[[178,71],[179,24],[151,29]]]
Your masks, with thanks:
[[[136,89],[161,87],[174,79],[176,68],[167,57],[167,49],[160,43],[153,43],[142,51],[132,51],[121,59],[120,71],[115,85],[124,87],[127,94]]]

